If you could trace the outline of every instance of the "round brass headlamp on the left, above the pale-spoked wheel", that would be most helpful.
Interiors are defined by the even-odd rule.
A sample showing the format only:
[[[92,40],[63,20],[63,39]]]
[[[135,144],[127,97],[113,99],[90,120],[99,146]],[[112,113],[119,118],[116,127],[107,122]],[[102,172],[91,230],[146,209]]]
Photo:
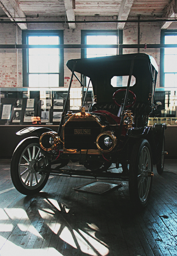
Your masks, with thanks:
[[[40,136],[39,144],[43,150],[54,150],[61,142],[59,135],[55,131],[48,131]]]

